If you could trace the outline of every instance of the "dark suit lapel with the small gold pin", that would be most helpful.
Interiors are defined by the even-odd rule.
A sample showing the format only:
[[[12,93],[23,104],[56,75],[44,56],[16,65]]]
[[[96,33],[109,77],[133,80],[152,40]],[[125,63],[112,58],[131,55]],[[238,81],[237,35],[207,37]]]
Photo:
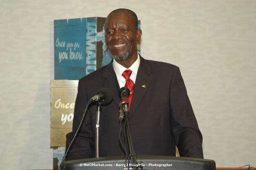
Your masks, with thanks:
[[[140,66],[136,76],[134,94],[132,96],[129,117],[131,117],[134,114],[134,111],[140,104],[147,89],[149,88],[151,81],[152,81],[151,68],[147,64],[147,61],[140,56]]]

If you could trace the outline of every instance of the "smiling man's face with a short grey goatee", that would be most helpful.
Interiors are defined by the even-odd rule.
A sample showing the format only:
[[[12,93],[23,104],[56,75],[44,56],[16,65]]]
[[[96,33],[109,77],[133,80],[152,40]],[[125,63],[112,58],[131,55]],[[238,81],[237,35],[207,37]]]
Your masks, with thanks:
[[[135,54],[137,56],[137,44],[140,43],[141,34],[135,29],[129,14],[109,16],[105,29],[106,44],[114,59],[125,60]]]

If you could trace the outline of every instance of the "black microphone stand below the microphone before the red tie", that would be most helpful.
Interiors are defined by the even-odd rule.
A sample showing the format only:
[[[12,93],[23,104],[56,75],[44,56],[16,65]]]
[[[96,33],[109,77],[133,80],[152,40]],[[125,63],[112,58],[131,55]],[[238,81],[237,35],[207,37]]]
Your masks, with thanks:
[[[127,121],[126,124],[126,132],[127,132],[127,138],[128,138],[128,145],[129,145],[129,149],[130,149],[130,158],[131,158],[131,164],[133,166],[133,170],[137,170],[137,159],[136,159],[136,154],[134,153],[134,146],[132,144],[132,140],[131,140],[131,131],[130,131],[130,126],[129,126],[129,114],[128,114],[128,104],[124,104],[124,112],[125,112],[125,121]],[[129,167],[129,166],[128,166]],[[125,168],[124,168],[125,170]],[[127,168],[128,170],[128,168]]]

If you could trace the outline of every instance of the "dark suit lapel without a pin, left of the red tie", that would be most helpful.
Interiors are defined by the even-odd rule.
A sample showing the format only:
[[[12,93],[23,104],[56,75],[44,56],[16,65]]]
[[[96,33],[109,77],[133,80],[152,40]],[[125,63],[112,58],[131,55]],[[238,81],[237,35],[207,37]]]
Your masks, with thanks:
[[[113,60],[107,65],[102,75],[102,77],[106,78],[106,81],[103,83],[103,86],[111,89],[111,91],[113,92],[113,100],[119,107],[121,97],[118,94],[118,90],[120,89],[120,87],[112,63]]]

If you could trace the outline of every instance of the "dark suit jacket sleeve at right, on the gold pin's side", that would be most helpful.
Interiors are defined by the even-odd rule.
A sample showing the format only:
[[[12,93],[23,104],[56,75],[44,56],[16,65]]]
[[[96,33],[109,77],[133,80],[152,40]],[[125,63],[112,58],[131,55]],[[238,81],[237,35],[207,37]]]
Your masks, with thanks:
[[[203,158],[203,137],[178,67],[171,79],[170,106],[172,132],[180,156]]]

